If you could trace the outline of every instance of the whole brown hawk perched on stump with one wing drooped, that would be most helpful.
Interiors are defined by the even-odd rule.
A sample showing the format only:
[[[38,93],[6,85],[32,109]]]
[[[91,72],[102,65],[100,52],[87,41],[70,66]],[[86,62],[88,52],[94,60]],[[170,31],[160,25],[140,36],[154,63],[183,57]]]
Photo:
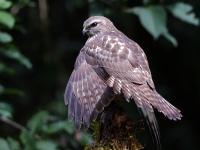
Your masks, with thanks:
[[[180,120],[180,110],[166,101],[155,89],[147,57],[142,48],[120,32],[106,17],[93,16],[83,24],[88,35],[76,59],[65,90],[68,120],[75,117],[75,128],[97,118],[116,94],[133,99],[147,120],[159,143],[154,108],[171,120]]]

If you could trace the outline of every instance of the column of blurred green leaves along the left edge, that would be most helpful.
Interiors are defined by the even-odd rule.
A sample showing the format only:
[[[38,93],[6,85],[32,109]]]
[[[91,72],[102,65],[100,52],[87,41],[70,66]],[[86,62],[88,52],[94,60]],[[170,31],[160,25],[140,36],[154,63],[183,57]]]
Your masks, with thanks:
[[[19,62],[20,64],[26,66],[28,69],[31,68],[30,61],[24,57],[18,48],[12,44],[13,38],[10,33],[8,33],[8,30],[11,31],[15,27],[15,17],[9,12],[9,8],[14,6],[14,4],[11,1],[7,0],[0,0],[0,56],[5,58],[10,58],[14,61]],[[4,32],[6,30],[6,32]],[[5,59],[3,59],[5,60]],[[0,61],[0,77],[1,73],[7,73],[9,75],[15,74],[15,69],[12,67],[9,67],[7,64],[9,64],[7,61]],[[16,88],[5,88],[0,83],[0,95],[7,94],[16,94],[16,95],[24,95],[24,93],[21,90],[18,90]],[[13,108],[12,105],[9,103],[3,101],[0,99],[0,120],[5,121],[6,123],[9,123],[13,126],[17,126],[17,123],[15,123],[12,120],[9,120],[8,118],[12,119],[13,117]],[[28,132],[24,129],[21,134],[22,142],[26,143],[26,141],[30,142],[31,137],[28,136]],[[1,150],[21,150],[20,144],[17,140],[8,137],[7,139],[0,138],[0,149]],[[25,144],[25,149],[27,145]],[[30,148],[30,150],[33,150]]]

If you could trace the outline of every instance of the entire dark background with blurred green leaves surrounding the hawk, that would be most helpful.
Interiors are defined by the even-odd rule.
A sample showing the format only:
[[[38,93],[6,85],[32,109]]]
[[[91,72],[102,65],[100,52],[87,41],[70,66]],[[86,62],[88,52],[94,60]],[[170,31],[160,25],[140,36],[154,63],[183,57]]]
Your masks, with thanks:
[[[157,90],[182,110],[157,113],[163,149],[198,150],[198,0],[0,0],[0,150],[84,149],[91,130],[74,131],[63,94],[86,37],[82,24],[105,15],[147,54]],[[127,113],[140,117],[133,102]],[[151,135],[139,135],[155,149]]]

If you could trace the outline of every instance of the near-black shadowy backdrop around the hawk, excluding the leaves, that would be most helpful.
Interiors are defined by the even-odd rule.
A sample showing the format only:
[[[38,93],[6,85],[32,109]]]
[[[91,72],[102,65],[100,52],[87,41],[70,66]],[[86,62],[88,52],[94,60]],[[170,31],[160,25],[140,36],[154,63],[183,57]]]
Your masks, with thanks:
[[[139,0],[32,2],[35,2],[35,6],[23,7],[16,15],[23,30],[13,30],[11,33],[14,43],[33,67],[28,70],[7,60],[15,68],[16,74],[1,76],[4,85],[18,88],[25,93],[24,96],[1,95],[1,99],[6,99],[13,107],[13,120],[25,126],[32,115],[47,110],[67,121],[63,94],[75,59],[87,40],[82,35],[82,24],[90,15],[99,14],[108,17],[119,30],[142,47],[147,55],[157,91],[182,112],[181,121],[170,121],[156,111],[163,150],[200,149],[199,26],[185,23],[168,14],[168,30],[178,41],[178,46],[174,47],[162,36],[154,40],[142,27],[137,16],[123,12],[126,7],[142,6],[143,3]],[[162,1],[163,5],[172,2],[174,1]],[[185,2],[193,6],[196,17],[199,18],[199,1]],[[161,1],[151,1],[151,4],[160,3]],[[130,114],[137,112],[133,102],[126,105],[125,109]],[[18,139],[19,134],[18,129],[0,122],[0,136]],[[58,136],[57,134],[56,137]],[[148,129],[140,136],[142,143],[146,145],[145,149],[155,149],[151,148],[153,142]],[[76,143],[76,136],[70,138],[75,141],[75,145],[79,144]],[[55,136],[52,139],[56,139]],[[73,144],[66,147],[77,149]]]

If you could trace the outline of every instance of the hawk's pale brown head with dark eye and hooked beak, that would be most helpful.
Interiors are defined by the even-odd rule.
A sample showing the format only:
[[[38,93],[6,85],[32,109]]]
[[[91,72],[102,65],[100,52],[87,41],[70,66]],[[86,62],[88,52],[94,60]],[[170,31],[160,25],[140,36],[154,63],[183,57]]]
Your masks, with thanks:
[[[112,30],[114,28],[113,23],[106,17],[103,16],[93,16],[88,18],[83,23],[83,35],[88,35],[92,37],[99,33],[104,33]]]

